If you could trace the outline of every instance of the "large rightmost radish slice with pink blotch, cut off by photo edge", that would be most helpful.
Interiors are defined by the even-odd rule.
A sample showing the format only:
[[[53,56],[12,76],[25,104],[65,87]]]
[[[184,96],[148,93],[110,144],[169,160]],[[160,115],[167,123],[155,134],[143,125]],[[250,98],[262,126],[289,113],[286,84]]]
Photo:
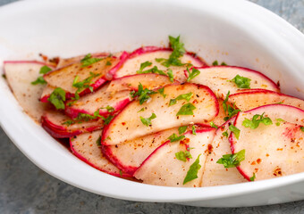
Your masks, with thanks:
[[[253,115],[262,114],[264,112],[265,112],[265,117],[269,117],[270,119],[272,119],[273,125],[265,126],[264,124],[260,124],[257,129],[244,128],[241,125],[243,118],[251,119],[251,117]],[[280,125],[277,126],[275,124],[277,122],[276,119],[283,119],[284,122],[280,121]],[[250,181],[250,177],[253,176],[253,173],[256,174],[255,180],[277,177],[278,175],[271,176],[269,174],[269,172],[268,173],[266,172],[265,169],[275,167],[276,163],[282,164],[282,161],[288,162],[288,160],[296,160],[296,161],[292,162],[292,164],[290,166],[284,165],[284,170],[283,170],[283,172],[281,170],[282,173],[279,176],[291,175],[294,173],[299,173],[304,170],[304,163],[302,161],[304,155],[303,155],[303,157],[301,156],[300,159],[298,156],[297,157],[295,156],[297,154],[297,152],[298,152],[298,154],[302,153],[301,148],[304,146],[304,145],[301,145],[301,142],[303,139],[302,137],[304,137],[304,136],[303,136],[303,132],[300,131],[300,127],[304,126],[304,111],[302,111],[298,108],[295,108],[293,106],[289,106],[289,105],[269,104],[269,105],[258,107],[256,109],[253,109],[250,111],[239,112],[238,115],[236,116],[236,119],[235,119],[233,125],[236,128],[239,128],[241,130],[241,134],[240,134],[239,139],[236,139],[236,137],[233,133],[229,136],[232,153],[240,152],[241,149],[245,149],[244,146],[241,146],[243,143],[242,144],[240,143],[240,142],[242,142],[241,140],[243,139],[243,137],[247,137],[245,135],[250,135],[250,133],[252,133],[252,135],[255,136],[255,137],[251,136],[250,139],[246,138],[246,144],[248,144],[249,146],[250,146],[250,144],[254,144],[254,146],[250,146],[250,149],[247,149],[247,150],[245,149],[245,161],[242,161],[241,165],[239,167],[237,167],[237,169],[240,171],[241,175],[243,177],[245,177],[248,181]],[[279,128],[282,129],[282,127],[285,128],[284,131],[280,131]],[[289,128],[289,127],[291,127],[291,128]],[[279,132],[275,128],[279,129]],[[290,130],[288,132],[286,132],[286,128],[290,129]],[[298,136],[297,139],[291,139],[290,134],[286,135],[287,133],[291,132],[292,128],[295,128],[295,130],[297,130],[297,132],[296,132],[296,135]],[[256,139],[258,139],[258,137],[263,134],[264,134],[264,136],[266,136],[266,135],[274,135],[274,136],[271,136],[271,139],[269,141],[267,141],[267,144],[264,142],[265,137],[257,142]],[[286,146],[288,146],[288,144],[285,144],[286,137],[291,140],[291,143],[292,143],[292,141],[299,140],[299,142],[297,144],[294,144],[294,146],[292,146],[292,149],[294,152],[293,154],[291,154],[292,149],[286,147]],[[255,141],[255,142],[252,143],[252,141]],[[268,144],[271,144],[272,146],[269,147]],[[277,148],[277,146],[280,146],[280,145],[282,148]],[[262,148],[263,146],[267,146],[267,148],[258,152],[258,149]],[[275,150],[274,148],[277,148],[277,150],[274,151]],[[277,154],[275,152],[280,152],[280,151],[285,151],[285,152],[278,154],[279,158],[275,159],[275,155]],[[247,155],[246,155],[246,152],[247,152]],[[255,154],[254,152],[257,152],[257,154]],[[262,152],[266,152],[266,155],[264,155],[264,154],[261,155]],[[271,152],[273,152],[273,154],[274,154],[273,155],[274,160],[271,161],[271,162],[273,162],[273,164],[269,163],[269,161],[266,160],[266,159],[269,159],[268,157],[271,157],[268,154]],[[288,157],[283,156],[283,154],[288,154],[288,155],[291,154],[291,156],[288,158]],[[288,158],[288,159],[286,159],[286,158]],[[260,162],[260,163],[258,163],[258,162]],[[268,165],[264,164],[264,162],[266,162]],[[250,163],[250,165],[248,163]],[[255,169],[254,171],[251,170],[251,172],[249,172],[249,170],[246,170],[246,169],[249,169],[250,166],[256,165],[256,164],[258,165],[256,169],[260,169],[260,170]],[[300,164],[302,164],[302,165],[300,165]],[[266,167],[261,169],[262,168],[261,166],[263,166],[263,165],[266,165]],[[298,167],[296,167],[296,165]],[[275,169],[274,169],[274,171],[275,171]]]

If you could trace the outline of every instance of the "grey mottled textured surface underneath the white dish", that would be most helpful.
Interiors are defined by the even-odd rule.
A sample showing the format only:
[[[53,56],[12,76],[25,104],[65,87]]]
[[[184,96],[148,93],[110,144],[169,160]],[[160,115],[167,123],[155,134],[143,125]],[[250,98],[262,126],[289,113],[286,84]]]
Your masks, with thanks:
[[[227,0],[228,1],[228,0]],[[13,0],[0,0],[0,5]],[[252,0],[304,33],[304,0]],[[1,34],[1,31],[0,31]],[[0,213],[304,213],[304,201],[264,207],[211,209],[128,202],[88,193],[47,175],[0,128]]]

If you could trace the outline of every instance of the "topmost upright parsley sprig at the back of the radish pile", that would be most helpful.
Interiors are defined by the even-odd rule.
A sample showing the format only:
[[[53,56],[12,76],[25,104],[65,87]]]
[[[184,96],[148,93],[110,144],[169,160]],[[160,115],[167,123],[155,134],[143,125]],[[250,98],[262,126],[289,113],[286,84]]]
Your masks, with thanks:
[[[165,67],[173,66],[182,66],[184,63],[179,59],[184,53],[186,53],[183,43],[180,42],[180,36],[171,37],[169,36],[170,46],[173,49],[173,52],[170,54],[169,59],[156,58],[156,62],[161,62]]]

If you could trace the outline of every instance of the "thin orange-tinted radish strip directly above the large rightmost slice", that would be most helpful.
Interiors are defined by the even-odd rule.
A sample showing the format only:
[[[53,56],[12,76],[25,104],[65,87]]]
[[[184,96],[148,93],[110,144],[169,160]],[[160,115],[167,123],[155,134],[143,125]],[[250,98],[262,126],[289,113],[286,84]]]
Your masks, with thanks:
[[[283,95],[268,90],[247,91],[230,95],[229,101],[241,111],[249,111],[266,104],[282,103],[304,110],[304,101],[290,95]]]

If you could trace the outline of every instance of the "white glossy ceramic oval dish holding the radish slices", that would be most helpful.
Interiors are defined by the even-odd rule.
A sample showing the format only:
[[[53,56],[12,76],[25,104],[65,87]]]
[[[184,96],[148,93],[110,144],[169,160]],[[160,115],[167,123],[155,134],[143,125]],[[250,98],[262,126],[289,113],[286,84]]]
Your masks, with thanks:
[[[246,1],[50,0],[0,8],[0,66],[37,53],[72,56],[163,45],[182,35],[207,62],[262,70],[284,93],[304,98],[304,36],[289,23]],[[50,175],[89,192],[141,202],[236,207],[304,199],[304,173],[239,185],[176,188],[106,175],[78,160],[48,136],[0,80],[0,122],[13,143]],[[29,172],[30,173],[30,172]]]

